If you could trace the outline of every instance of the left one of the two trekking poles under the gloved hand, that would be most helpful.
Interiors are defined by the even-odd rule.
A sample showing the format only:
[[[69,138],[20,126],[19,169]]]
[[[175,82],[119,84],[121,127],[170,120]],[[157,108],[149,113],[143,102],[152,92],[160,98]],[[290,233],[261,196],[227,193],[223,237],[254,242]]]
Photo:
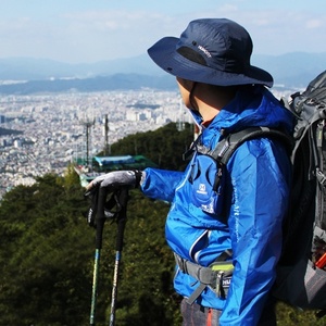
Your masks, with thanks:
[[[92,291],[91,291],[91,305],[90,305],[90,316],[89,325],[95,326],[96,322],[96,305],[98,296],[98,279],[99,279],[99,265],[102,249],[102,237],[104,228],[104,204],[106,199],[106,189],[100,188],[98,197],[98,210],[97,210],[97,223],[96,223],[96,252],[95,252],[95,263],[93,263],[93,274],[92,274]]]

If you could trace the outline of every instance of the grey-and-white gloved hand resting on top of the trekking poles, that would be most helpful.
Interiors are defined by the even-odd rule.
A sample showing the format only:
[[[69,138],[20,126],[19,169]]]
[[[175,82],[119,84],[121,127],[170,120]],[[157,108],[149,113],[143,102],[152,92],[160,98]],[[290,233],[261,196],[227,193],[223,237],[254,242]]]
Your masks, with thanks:
[[[89,192],[93,188],[100,186],[101,188],[105,187],[108,190],[115,190],[123,187],[129,189],[137,188],[140,184],[142,176],[141,171],[114,171],[108,174],[96,177],[89,185],[86,187],[86,191]]]

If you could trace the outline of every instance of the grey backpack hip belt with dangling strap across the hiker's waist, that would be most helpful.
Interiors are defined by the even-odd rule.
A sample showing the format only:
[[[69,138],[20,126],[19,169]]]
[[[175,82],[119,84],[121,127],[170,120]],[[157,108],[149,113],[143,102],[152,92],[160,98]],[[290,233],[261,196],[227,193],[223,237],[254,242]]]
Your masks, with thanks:
[[[233,251],[230,249],[225,250],[217,256],[215,262],[224,262],[227,259],[229,259],[231,254]],[[192,304],[195,300],[202,293],[206,286],[216,286],[218,271],[212,271],[211,267],[204,267],[199,264],[192,263],[188,260],[183,259],[176,253],[174,255],[180,271],[185,274],[195,277],[200,283],[197,289],[191,293],[191,296],[187,300],[187,303]]]

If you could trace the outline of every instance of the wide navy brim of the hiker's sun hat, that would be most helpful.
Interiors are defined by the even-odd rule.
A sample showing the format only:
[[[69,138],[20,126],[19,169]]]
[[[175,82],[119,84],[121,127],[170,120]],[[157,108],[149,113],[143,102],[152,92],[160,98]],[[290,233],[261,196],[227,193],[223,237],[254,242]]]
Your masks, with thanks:
[[[176,51],[176,37],[164,37],[148,49],[150,58],[165,72],[176,77],[217,86],[262,84],[273,86],[266,71],[250,65],[244,74],[227,73],[188,60]]]

